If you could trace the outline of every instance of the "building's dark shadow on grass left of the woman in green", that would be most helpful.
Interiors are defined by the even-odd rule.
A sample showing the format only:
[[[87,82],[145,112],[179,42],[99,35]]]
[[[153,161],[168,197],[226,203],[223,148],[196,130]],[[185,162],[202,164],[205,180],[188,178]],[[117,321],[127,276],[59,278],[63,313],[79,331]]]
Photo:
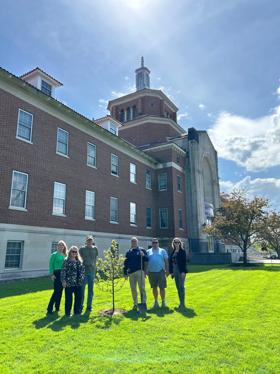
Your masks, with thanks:
[[[0,298],[30,294],[38,291],[53,292],[53,282],[48,279],[32,279],[29,281],[19,281],[16,283],[4,283],[0,285]]]

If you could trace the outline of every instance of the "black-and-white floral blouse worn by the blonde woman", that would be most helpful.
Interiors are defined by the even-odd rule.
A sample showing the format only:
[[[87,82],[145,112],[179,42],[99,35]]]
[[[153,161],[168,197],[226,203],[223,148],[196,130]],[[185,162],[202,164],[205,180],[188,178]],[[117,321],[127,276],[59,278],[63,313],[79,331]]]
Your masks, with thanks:
[[[66,287],[70,286],[78,286],[82,285],[83,276],[85,275],[85,267],[84,264],[81,263],[79,260],[71,261],[69,258],[65,258],[63,260],[61,266],[61,282],[66,282]]]

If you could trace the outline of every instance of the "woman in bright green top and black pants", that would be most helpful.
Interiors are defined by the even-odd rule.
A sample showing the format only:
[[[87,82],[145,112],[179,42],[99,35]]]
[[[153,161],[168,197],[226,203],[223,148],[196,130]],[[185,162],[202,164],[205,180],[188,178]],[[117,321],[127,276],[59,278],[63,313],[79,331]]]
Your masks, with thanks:
[[[53,281],[53,294],[47,307],[47,314],[53,313],[53,304],[55,304],[55,310],[57,312],[59,311],[63,291],[62,283],[60,281],[61,265],[63,260],[66,258],[66,251],[67,247],[65,242],[60,240],[57,244],[57,252],[54,252],[50,257],[50,273]]]

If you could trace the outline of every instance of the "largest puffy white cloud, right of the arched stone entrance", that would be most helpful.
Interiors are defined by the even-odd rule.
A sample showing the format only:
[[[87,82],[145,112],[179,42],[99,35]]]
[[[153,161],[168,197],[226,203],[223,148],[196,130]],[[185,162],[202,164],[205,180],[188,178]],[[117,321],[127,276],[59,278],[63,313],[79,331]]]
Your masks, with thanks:
[[[280,105],[273,114],[256,119],[221,112],[208,134],[219,157],[247,171],[280,165]]]

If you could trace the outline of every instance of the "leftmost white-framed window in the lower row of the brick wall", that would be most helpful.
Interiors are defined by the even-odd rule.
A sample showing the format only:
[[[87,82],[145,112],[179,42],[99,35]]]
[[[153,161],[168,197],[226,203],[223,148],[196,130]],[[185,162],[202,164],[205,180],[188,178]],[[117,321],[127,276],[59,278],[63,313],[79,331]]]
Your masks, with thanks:
[[[10,206],[25,209],[28,174],[13,171]]]

